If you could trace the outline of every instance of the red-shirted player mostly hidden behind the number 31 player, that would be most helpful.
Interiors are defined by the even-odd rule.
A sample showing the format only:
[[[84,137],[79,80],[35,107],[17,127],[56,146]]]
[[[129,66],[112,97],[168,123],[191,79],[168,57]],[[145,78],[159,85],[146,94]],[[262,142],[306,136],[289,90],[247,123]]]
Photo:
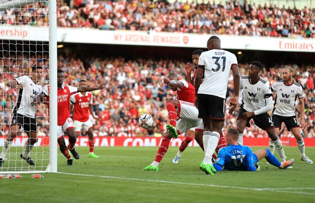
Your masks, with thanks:
[[[197,49],[195,51],[192,52],[192,64],[187,63],[185,66],[186,69],[186,76],[187,76],[187,81],[192,84],[194,86],[194,79],[196,77],[196,72],[197,72],[197,67],[198,67],[198,62],[199,62],[199,56],[203,51],[200,49]],[[191,78],[191,71],[192,71],[192,66],[194,66],[194,72],[193,72],[193,77]],[[201,147],[201,149],[204,151],[203,148],[203,141],[202,141],[202,134],[203,134],[203,123],[200,124],[199,126],[189,129],[186,132],[186,137],[185,139],[182,141],[177,154],[175,155],[174,159],[173,159],[173,163],[174,164],[178,164],[179,159],[182,156],[182,152],[184,152],[184,150],[188,147],[189,143],[195,139],[199,146]],[[219,143],[218,146],[216,148],[216,152],[218,154],[219,150],[222,147],[226,146],[226,141],[225,141],[225,137],[223,136],[222,132],[220,133],[220,139],[219,139]],[[213,155],[213,158],[216,159],[216,155]]]

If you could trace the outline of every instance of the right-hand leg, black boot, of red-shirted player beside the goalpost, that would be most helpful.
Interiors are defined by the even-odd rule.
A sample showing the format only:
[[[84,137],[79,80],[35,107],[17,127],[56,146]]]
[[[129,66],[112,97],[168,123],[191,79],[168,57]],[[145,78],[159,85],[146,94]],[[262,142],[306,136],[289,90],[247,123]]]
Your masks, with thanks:
[[[77,136],[75,135],[75,127],[71,118],[68,118],[63,124],[63,129],[65,129],[66,135],[69,137],[69,145],[68,149],[75,159],[79,159],[80,156],[78,152],[75,150],[74,146],[77,141]]]

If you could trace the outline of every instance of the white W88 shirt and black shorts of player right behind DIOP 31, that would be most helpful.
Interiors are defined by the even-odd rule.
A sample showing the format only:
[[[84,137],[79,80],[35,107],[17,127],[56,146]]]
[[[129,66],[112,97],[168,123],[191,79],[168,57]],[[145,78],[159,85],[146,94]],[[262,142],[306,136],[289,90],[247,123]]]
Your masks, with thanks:
[[[241,109],[238,113],[237,120],[244,119],[247,121],[246,127],[251,127],[250,120],[253,119],[255,125],[262,130],[274,128],[271,116],[268,112],[254,115],[251,118],[245,118],[243,113],[259,110],[265,106],[266,98],[272,97],[272,92],[267,81],[259,76],[258,82],[252,84],[248,75],[241,76],[240,90],[243,91]]]

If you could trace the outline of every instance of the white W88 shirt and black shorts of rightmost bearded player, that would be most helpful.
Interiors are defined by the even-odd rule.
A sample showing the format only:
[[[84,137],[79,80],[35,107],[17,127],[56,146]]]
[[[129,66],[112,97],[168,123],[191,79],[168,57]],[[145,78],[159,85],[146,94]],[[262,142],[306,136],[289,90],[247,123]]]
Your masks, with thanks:
[[[294,104],[297,98],[302,99],[304,97],[302,86],[297,82],[286,85],[283,80],[279,80],[272,84],[271,90],[276,92],[272,111],[272,121],[275,128],[281,129],[282,122],[284,122],[288,131],[291,128],[300,127],[300,123],[295,116]]]

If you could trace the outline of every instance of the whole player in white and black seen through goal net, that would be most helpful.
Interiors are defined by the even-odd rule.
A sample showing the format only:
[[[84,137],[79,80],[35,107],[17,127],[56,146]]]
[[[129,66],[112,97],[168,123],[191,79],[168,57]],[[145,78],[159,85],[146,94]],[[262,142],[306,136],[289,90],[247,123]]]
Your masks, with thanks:
[[[10,132],[4,140],[2,153],[0,156],[0,167],[2,167],[3,160],[6,153],[10,149],[13,139],[17,136],[20,128],[23,127],[24,132],[28,135],[28,140],[24,152],[20,155],[29,165],[35,165],[30,157],[30,152],[37,142],[37,122],[35,119],[37,97],[42,92],[42,86],[37,82],[42,78],[43,68],[41,66],[32,67],[30,76],[20,76],[11,79],[6,83],[10,88],[18,89],[18,97],[13,107]]]

